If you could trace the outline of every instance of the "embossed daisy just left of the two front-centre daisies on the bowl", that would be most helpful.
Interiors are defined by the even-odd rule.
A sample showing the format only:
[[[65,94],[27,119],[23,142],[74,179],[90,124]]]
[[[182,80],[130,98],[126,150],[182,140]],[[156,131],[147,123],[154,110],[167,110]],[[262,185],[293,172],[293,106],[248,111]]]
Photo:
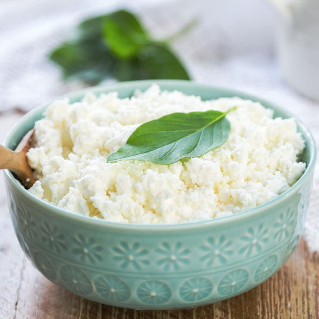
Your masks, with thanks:
[[[82,234],[72,237],[72,241],[76,248],[72,249],[72,253],[79,257],[81,262],[89,261],[95,265],[96,261],[102,261],[102,246],[98,245],[92,237],[85,239]]]

